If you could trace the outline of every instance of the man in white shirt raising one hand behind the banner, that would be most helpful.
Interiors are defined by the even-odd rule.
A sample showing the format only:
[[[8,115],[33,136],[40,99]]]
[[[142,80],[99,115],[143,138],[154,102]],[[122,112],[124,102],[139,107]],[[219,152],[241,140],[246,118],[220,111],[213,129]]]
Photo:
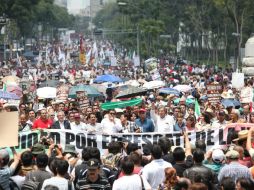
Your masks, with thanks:
[[[158,109],[158,115],[155,113],[155,105],[152,104],[150,111],[151,118],[155,122],[156,132],[173,132],[174,131],[174,118],[173,116],[167,115],[167,110],[164,106],[160,106]]]

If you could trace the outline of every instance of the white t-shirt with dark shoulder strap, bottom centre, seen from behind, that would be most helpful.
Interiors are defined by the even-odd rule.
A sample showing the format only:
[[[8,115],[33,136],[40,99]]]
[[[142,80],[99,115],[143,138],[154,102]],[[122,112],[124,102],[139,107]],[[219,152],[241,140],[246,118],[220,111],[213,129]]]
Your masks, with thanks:
[[[141,176],[142,177],[142,176]],[[147,182],[147,180],[142,177],[145,190],[150,190],[151,186]],[[137,174],[133,174],[130,176],[123,176],[114,181],[112,190],[141,190],[142,183],[140,176]]]

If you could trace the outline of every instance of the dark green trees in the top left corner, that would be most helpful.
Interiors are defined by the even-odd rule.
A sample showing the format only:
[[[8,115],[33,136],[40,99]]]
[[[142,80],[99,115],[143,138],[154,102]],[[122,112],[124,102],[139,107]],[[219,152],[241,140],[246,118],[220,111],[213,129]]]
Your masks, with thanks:
[[[55,29],[69,27],[75,20],[66,8],[55,5],[54,0],[1,0],[1,15],[8,19],[9,37],[12,39],[38,39],[39,25],[40,37],[49,33],[53,37]]]

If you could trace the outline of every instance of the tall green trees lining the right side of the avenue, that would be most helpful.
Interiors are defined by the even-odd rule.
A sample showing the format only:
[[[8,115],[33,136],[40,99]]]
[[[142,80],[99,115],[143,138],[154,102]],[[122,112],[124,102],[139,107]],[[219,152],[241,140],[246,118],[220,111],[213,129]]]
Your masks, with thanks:
[[[145,58],[158,56],[161,50],[176,53],[181,46],[181,54],[195,61],[226,63],[232,55],[239,60],[240,48],[254,32],[253,0],[117,2],[107,4],[94,18],[94,24],[118,31],[138,28]],[[133,34],[109,36],[123,46],[136,47]]]

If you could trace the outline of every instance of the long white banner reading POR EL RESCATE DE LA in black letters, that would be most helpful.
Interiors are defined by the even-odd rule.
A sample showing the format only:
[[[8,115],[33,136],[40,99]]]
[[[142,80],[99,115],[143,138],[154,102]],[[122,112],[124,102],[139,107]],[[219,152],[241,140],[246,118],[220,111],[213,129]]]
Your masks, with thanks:
[[[230,144],[231,136],[234,131],[240,131],[253,127],[253,124],[240,124],[233,123],[225,128],[217,128],[207,131],[189,132],[188,136],[190,142],[195,144],[198,139],[203,139],[206,142],[207,150],[215,147],[225,147]],[[82,131],[76,130],[59,130],[51,129],[45,130],[43,136],[51,137],[56,144],[61,144],[65,147],[66,144],[73,144],[76,150],[81,152],[83,147],[93,146],[104,152],[107,149],[108,143],[112,141],[130,141],[137,143],[142,148],[147,143],[157,143],[158,139],[162,136],[168,137],[172,145],[184,147],[184,139],[180,132],[174,133],[117,133],[112,135],[102,134],[86,134]],[[31,148],[33,144],[37,143],[40,139],[40,132],[24,132],[19,135],[19,145],[16,147],[18,150]]]

